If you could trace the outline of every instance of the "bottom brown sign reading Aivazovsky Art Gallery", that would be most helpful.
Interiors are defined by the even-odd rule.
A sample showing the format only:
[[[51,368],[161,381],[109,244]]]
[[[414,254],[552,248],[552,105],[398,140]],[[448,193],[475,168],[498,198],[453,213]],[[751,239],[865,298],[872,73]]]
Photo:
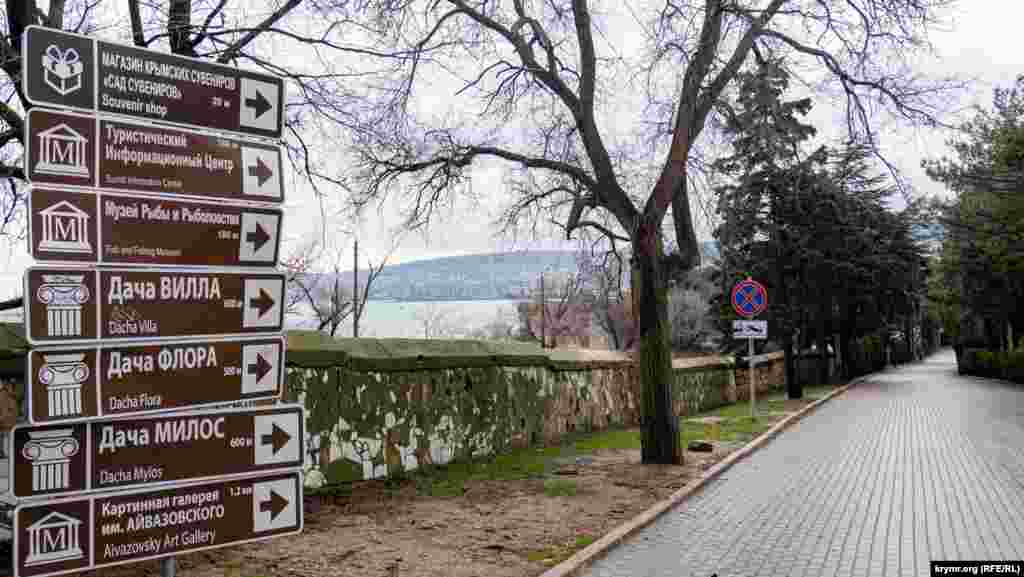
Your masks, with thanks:
[[[14,575],[42,577],[302,531],[302,476],[143,489],[22,504]]]

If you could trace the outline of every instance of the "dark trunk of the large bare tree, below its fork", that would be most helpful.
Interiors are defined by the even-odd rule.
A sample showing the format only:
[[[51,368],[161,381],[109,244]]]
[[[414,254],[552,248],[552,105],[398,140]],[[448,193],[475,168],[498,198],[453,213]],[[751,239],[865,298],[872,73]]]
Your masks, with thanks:
[[[633,243],[632,285],[640,329],[641,459],[644,463],[682,464],[679,421],[673,410],[669,291],[662,270],[664,248],[656,229],[644,226],[640,231]]]

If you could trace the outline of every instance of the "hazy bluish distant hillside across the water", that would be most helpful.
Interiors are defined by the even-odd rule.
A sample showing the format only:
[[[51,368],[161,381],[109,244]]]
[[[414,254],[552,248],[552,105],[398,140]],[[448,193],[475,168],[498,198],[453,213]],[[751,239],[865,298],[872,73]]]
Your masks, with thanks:
[[[702,243],[707,257],[717,257],[713,242]],[[488,300],[520,299],[536,285],[541,273],[573,273],[572,251],[529,251],[472,254],[417,260],[385,266],[374,282],[372,300]],[[340,275],[351,286],[352,272]],[[365,281],[366,271],[359,273]]]

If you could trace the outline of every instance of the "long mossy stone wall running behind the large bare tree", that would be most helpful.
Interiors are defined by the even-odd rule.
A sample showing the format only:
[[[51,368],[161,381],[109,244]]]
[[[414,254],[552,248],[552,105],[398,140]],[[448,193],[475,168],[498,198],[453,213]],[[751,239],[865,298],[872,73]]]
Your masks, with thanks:
[[[290,334],[288,359],[290,397],[307,407],[308,432],[321,443],[315,465],[330,481],[640,424],[640,383],[628,354],[471,340],[327,343]],[[782,385],[781,360],[758,368],[759,390]],[[737,377],[729,358],[673,365],[678,416],[746,398],[737,390],[745,369]],[[314,466],[312,456],[307,464]]]

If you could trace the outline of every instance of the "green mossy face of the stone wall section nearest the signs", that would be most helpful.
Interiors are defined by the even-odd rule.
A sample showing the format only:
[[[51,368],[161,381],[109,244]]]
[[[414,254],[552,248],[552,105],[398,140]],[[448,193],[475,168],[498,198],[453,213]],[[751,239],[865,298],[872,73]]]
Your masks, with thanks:
[[[517,431],[536,439],[544,421],[542,371],[292,368],[289,387],[293,398],[304,394],[310,434],[331,431],[334,443],[352,444],[360,457],[393,472],[402,468],[396,451],[429,451],[431,440],[460,459],[507,451]]]

